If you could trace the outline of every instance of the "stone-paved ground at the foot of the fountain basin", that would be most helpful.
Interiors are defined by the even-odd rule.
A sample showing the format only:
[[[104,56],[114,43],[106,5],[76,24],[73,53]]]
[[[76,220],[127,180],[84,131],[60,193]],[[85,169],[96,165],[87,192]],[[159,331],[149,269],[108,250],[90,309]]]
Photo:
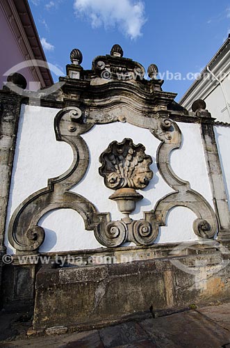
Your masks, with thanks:
[[[30,322],[20,315],[17,325],[14,320],[13,315],[0,315],[0,338],[8,335],[0,348],[230,348],[230,302],[99,330],[24,339]]]

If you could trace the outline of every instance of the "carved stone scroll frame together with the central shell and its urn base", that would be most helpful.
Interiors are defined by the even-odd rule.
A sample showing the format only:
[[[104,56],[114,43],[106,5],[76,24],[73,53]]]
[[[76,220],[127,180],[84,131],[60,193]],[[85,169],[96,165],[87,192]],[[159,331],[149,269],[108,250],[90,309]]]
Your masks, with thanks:
[[[110,122],[113,118],[117,120],[117,114],[113,116],[111,111]],[[89,153],[81,134],[88,132],[94,122],[87,123],[79,108],[67,107],[56,115],[54,129],[57,141],[65,141],[72,147],[74,160],[65,173],[49,179],[46,188],[26,198],[13,213],[8,238],[18,253],[36,253],[44,241],[44,229],[38,226],[38,222],[47,212],[63,208],[78,212],[85,223],[85,230],[93,230],[97,241],[107,247],[121,246],[127,241],[138,245],[153,244],[159,226],[165,225],[168,212],[176,206],[188,207],[195,212],[197,219],[193,230],[197,236],[212,238],[215,235],[217,219],[211,205],[170,166],[172,150],[181,145],[181,131],[176,122],[163,116],[129,118],[126,115],[126,120],[149,129],[161,141],[156,155],[158,170],[174,192],[158,200],[154,210],[145,212],[143,219],[133,221],[129,217],[135,209],[135,202],[143,198],[135,189],[147,187],[153,176],[149,169],[151,157],[145,154],[142,144],[135,145],[131,139],[124,139],[122,143],[113,141],[100,157],[99,173],[104,177],[106,186],[115,190],[109,198],[117,202],[124,214],[122,220],[111,221],[108,212],[98,212],[89,200],[69,191],[87,171]]]

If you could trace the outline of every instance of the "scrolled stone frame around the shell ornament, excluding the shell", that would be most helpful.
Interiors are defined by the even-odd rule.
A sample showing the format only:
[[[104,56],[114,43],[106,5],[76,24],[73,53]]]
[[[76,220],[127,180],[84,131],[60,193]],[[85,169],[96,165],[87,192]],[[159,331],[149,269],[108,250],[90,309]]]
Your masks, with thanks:
[[[90,112],[88,112],[90,119]],[[119,121],[117,113],[111,110],[110,119],[97,124]],[[17,253],[36,253],[44,241],[44,230],[38,226],[41,217],[53,209],[70,208],[78,212],[85,223],[85,230],[93,230],[97,241],[107,247],[121,246],[124,242],[137,245],[154,244],[159,226],[165,226],[170,209],[176,206],[188,207],[195,212],[197,219],[193,223],[195,234],[202,238],[212,238],[217,233],[217,219],[211,205],[205,198],[190,188],[189,182],[181,180],[170,166],[172,150],[181,145],[181,131],[176,122],[165,113],[156,117],[133,117],[126,113],[126,120],[132,125],[149,129],[151,134],[161,141],[156,161],[163,179],[174,192],[161,198],[153,210],[144,212],[143,219],[126,223],[111,221],[108,212],[98,212],[89,200],[69,191],[86,173],[89,165],[88,146],[81,134],[88,132],[96,122],[87,120],[76,107],[67,107],[58,112],[54,121],[57,141],[65,141],[73,150],[72,166],[58,177],[48,180],[48,186],[33,193],[17,207],[10,219],[8,238]]]

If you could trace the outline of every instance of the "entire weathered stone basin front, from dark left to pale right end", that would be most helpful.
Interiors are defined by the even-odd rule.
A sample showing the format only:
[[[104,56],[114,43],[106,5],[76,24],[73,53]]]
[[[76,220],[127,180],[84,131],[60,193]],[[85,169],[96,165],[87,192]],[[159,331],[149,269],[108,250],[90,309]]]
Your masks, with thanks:
[[[179,262],[185,270],[187,267],[188,273],[176,268],[173,262]],[[224,299],[230,296],[229,266],[220,269],[221,262],[220,253],[205,252],[171,260],[40,269],[34,327],[65,325],[90,329],[115,323],[127,315],[135,317],[136,313],[157,313],[215,301],[217,297]]]

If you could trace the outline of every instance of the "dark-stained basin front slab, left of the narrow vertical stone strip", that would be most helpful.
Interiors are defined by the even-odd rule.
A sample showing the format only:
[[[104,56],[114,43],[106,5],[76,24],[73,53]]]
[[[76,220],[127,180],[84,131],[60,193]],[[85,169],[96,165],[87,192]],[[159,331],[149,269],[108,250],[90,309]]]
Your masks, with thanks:
[[[140,271],[142,263],[41,269],[36,285],[35,329],[113,322],[133,311],[149,311],[152,303],[165,308],[163,271],[156,271],[154,262]]]

